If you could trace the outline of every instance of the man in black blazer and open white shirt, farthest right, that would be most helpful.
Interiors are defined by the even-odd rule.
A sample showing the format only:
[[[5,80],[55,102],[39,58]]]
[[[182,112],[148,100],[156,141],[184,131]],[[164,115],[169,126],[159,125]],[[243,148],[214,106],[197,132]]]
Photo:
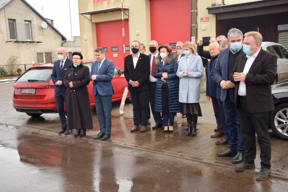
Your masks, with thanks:
[[[260,146],[261,168],[256,180],[264,180],[271,173],[271,145],[268,134],[269,113],[274,110],[271,95],[277,72],[276,55],[261,49],[262,35],[258,32],[247,32],[244,38],[243,51],[236,59],[229,79],[235,82],[235,109],[239,109],[241,130],[245,140],[245,160],[233,167],[241,171],[254,168],[256,158],[256,139]]]

